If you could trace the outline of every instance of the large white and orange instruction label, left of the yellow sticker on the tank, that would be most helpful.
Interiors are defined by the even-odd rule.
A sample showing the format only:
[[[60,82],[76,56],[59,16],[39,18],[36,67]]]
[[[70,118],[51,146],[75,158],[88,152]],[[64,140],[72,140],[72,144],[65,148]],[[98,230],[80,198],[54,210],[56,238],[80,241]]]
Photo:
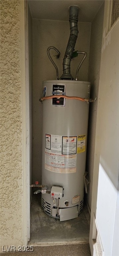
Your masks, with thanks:
[[[58,173],[76,172],[77,136],[46,134],[45,169]]]

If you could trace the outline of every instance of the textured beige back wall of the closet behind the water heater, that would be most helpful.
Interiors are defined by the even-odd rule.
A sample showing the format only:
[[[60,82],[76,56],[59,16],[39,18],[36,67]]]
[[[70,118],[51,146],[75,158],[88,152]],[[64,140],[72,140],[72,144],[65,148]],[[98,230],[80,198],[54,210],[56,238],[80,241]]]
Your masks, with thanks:
[[[91,23],[78,22],[79,33],[75,50],[87,52],[87,58],[78,74],[80,81],[87,81],[88,77],[90,30]],[[42,97],[42,81],[56,79],[56,69],[48,58],[47,49],[49,46],[55,46],[60,51],[60,58],[57,59],[57,52],[50,50],[50,54],[58,66],[60,77],[63,73],[62,62],[69,34],[68,21],[33,19],[33,183],[36,180],[41,182],[43,112],[39,99]],[[71,61],[71,74],[74,78],[81,59],[82,55],[80,54]]]

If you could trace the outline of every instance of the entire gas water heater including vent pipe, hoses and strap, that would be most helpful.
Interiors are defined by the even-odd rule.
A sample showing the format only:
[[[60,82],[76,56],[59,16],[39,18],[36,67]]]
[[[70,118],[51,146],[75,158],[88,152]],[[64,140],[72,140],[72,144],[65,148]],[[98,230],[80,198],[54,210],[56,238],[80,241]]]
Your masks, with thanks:
[[[77,39],[78,7],[69,8],[70,36],[63,58],[63,74],[56,80],[43,82],[43,143],[42,143],[42,192],[43,211],[60,221],[76,218],[83,208],[84,173],[88,128],[90,83],[78,81],[78,71],[86,58],[85,52],[75,51]],[[70,74],[70,61],[84,54],[76,78]],[[33,185],[34,186],[34,185]],[[38,187],[38,186],[37,186]],[[48,191],[49,190],[49,191]]]

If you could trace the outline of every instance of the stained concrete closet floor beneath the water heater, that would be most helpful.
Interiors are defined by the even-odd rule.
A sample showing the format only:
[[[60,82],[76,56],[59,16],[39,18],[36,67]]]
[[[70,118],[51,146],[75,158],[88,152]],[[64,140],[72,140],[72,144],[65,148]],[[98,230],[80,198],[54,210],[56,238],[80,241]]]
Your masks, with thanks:
[[[29,245],[47,246],[89,242],[90,215],[86,205],[77,218],[60,222],[42,211],[40,194],[33,194],[30,223]]]

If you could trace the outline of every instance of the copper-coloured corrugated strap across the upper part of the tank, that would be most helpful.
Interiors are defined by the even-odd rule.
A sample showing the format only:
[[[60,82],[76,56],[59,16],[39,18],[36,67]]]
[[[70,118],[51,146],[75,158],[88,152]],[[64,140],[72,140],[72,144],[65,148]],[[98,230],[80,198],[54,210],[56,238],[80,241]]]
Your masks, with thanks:
[[[58,98],[59,96],[60,95],[51,95],[51,96],[42,97],[40,99],[40,101],[42,102],[43,100]],[[97,97],[95,99],[85,99],[85,98],[81,98],[81,97],[66,96],[66,95],[61,95],[59,98],[65,98],[65,99],[70,99],[70,100],[81,100],[81,101],[86,101],[86,102],[94,102],[97,99]]]

